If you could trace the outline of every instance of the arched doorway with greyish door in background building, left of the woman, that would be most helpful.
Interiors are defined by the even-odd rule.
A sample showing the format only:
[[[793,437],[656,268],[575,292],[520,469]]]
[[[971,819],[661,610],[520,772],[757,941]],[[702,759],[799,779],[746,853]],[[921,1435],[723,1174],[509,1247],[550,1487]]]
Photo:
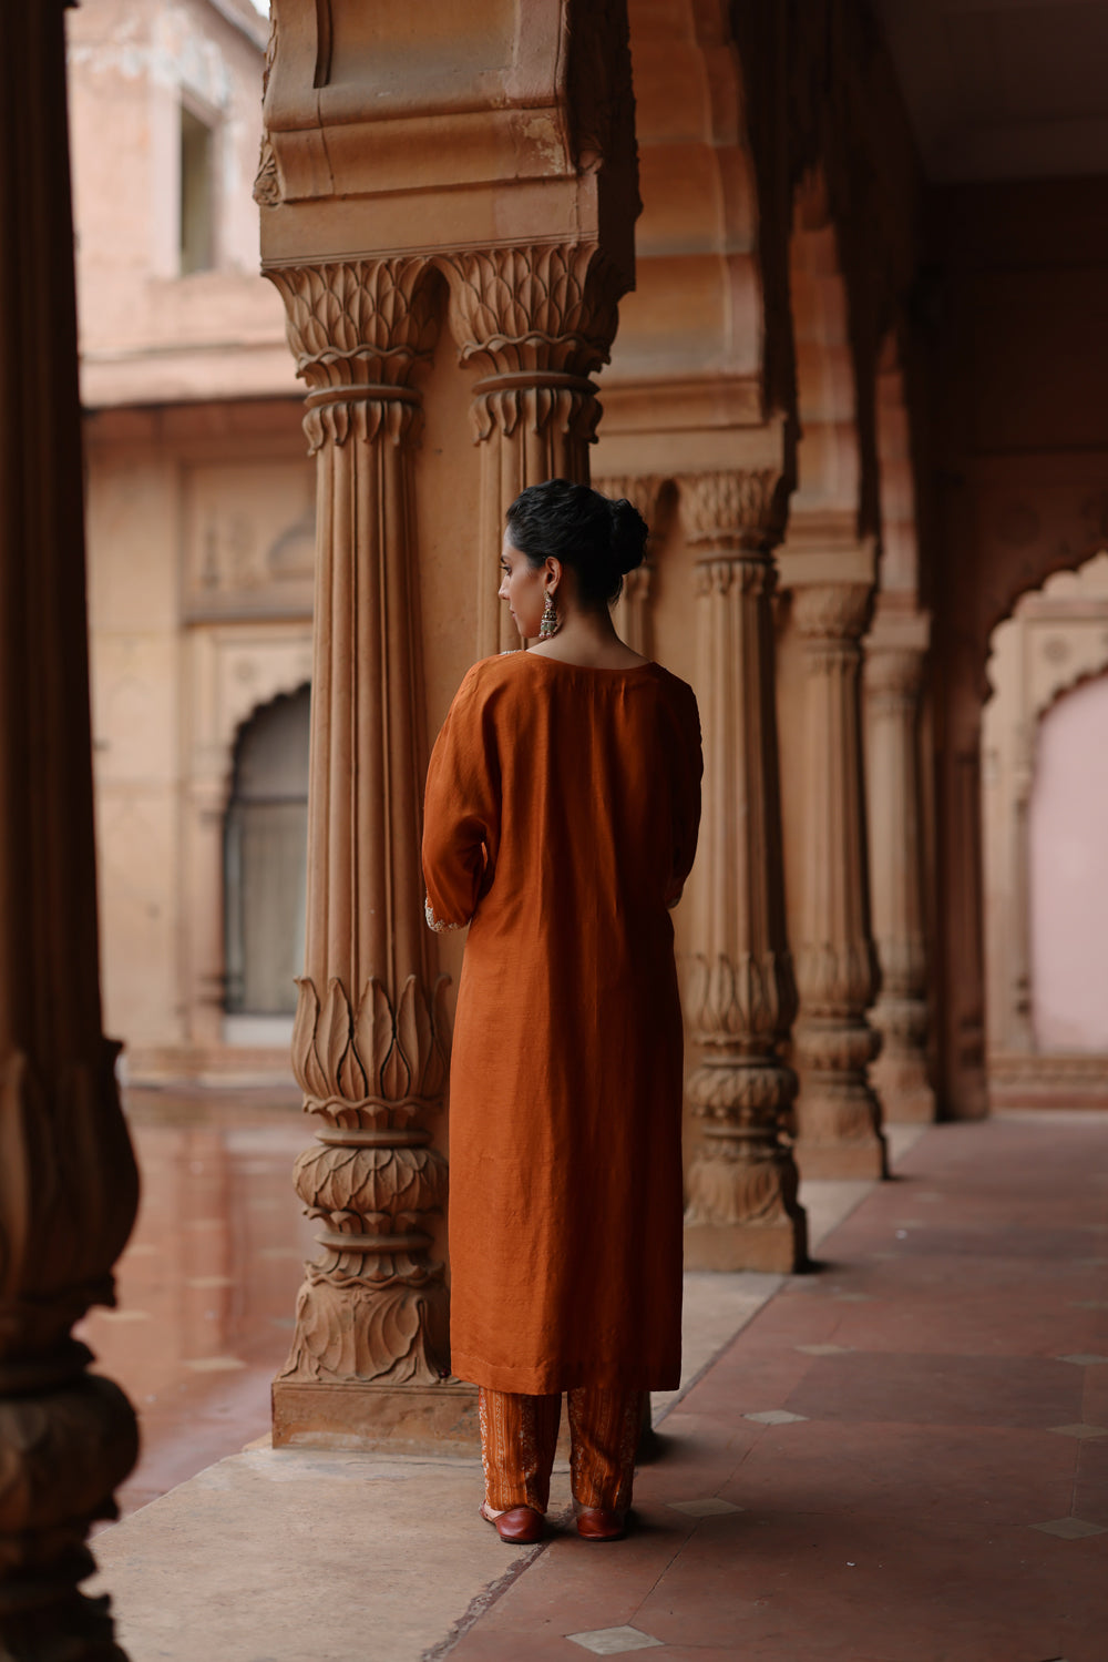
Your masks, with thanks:
[[[304,962],[309,688],[239,730],[224,826],[226,1024],[231,1044],[279,1042]]]

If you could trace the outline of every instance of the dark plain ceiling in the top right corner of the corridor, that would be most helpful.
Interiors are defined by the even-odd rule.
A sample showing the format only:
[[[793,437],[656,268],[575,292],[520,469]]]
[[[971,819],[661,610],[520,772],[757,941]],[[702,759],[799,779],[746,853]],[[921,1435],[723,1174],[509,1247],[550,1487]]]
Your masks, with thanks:
[[[929,178],[1108,173],[1105,0],[872,0]]]

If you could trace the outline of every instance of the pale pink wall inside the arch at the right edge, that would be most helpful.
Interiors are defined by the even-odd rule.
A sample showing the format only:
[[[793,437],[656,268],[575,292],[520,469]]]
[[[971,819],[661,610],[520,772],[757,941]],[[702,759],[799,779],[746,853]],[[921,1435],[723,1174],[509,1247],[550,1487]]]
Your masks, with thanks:
[[[1037,1045],[1108,1052],[1108,675],[1042,720],[1030,886]]]

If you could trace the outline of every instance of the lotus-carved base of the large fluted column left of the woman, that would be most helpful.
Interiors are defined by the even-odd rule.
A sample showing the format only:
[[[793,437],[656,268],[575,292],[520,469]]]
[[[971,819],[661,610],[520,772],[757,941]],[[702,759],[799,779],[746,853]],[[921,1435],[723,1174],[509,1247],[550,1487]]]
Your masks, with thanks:
[[[322,1001],[311,977],[299,986],[294,1067],[324,1125],[294,1180],[322,1251],[304,1266],[272,1384],[274,1448],[473,1453],[477,1393],[449,1378],[432,1256],[447,1162],[425,1122],[445,1084],[445,981],[409,976],[395,1007],[375,979],[357,1004],[339,981]]]

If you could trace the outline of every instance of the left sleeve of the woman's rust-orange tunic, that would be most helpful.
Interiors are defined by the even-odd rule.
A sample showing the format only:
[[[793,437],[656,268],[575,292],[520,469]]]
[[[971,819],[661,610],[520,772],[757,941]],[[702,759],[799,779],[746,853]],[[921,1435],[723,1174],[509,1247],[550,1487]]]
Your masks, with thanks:
[[[424,883],[432,929],[463,929],[492,881],[500,839],[500,768],[492,711],[475,670],[462,681],[427,768]]]

